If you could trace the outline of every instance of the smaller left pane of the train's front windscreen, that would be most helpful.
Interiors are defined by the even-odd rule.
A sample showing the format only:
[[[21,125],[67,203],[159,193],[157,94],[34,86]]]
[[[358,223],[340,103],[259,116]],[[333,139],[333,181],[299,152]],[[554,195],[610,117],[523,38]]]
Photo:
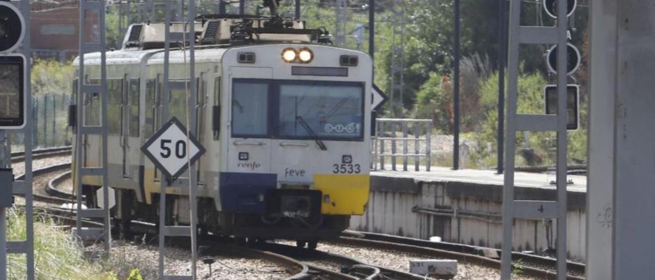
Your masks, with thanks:
[[[232,86],[233,137],[269,134],[269,82],[235,79]]]

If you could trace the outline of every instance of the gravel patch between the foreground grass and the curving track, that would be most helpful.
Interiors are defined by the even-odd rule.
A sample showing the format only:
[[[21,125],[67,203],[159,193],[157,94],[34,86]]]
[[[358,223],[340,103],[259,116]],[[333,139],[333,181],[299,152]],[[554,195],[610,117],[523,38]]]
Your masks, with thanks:
[[[122,241],[114,241],[111,258],[107,265],[117,273],[119,279],[126,279],[130,270],[137,268],[143,279],[157,279],[159,267],[158,247],[153,245],[134,245]],[[101,249],[102,247],[92,247]],[[177,248],[166,250],[166,270],[168,275],[191,275],[190,251]],[[285,268],[253,258],[236,256],[213,256],[216,262],[212,264],[212,275],[209,266],[202,263],[202,258],[196,264],[198,279],[284,279],[290,276]]]

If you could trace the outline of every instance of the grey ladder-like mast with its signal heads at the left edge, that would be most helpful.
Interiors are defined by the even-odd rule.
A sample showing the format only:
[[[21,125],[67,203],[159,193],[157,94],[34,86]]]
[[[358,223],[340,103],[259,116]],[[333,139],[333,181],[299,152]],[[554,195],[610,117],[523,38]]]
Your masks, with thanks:
[[[19,9],[20,7],[20,9]],[[25,17],[24,17],[25,16]],[[0,1],[0,279],[7,279],[7,254],[25,254],[26,278],[34,279],[34,232],[32,209],[32,128],[27,123],[29,91],[29,22],[28,1]],[[15,50],[22,46],[22,53]],[[16,181],[10,168],[6,130],[24,134],[25,176]],[[7,168],[9,167],[9,168]],[[28,186],[26,188],[26,186]],[[25,198],[25,239],[7,241],[6,208],[13,203],[13,196]]]

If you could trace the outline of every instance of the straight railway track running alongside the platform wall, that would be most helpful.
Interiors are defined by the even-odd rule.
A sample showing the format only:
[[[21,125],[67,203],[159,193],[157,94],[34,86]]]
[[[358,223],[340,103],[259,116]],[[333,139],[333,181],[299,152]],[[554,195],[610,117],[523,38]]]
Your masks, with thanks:
[[[491,258],[492,255],[500,256],[500,250],[483,248],[471,245],[446,242],[430,242],[422,239],[391,236],[386,234],[373,234],[369,232],[356,232],[347,230],[344,236],[336,243],[357,247],[377,248],[389,251],[400,251],[432,258],[450,258],[458,262],[469,262],[500,270],[500,260]],[[537,277],[539,279],[552,279],[555,277],[556,260],[533,254],[512,253],[512,260],[517,268],[523,271],[524,275]],[[585,266],[578,262],[567,263],[567,279],[582,280],[584,278]]]

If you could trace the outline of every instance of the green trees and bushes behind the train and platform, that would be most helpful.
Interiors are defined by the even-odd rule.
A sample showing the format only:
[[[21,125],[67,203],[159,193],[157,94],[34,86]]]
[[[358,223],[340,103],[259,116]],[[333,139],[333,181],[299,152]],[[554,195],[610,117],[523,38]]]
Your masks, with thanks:
[[[389,104],[379,112],[382,117],[428,118],[433,122],[433,133],[448,135],[453,131],[453,1],[452,0],[405,0],[401,7],[394,7],[394,0],[377,0],[375,6],[375,84],[391,94],[390,68],[392,64],[392,27],[400,20],[394,18],[394,10],[403,10],[405,63],[403,67],[403,100],[398,112],[392,114]],[[198,14],[217,11],[211,0],[197,1]],[[293,0],[280,1],[280,14],[293,16]],[[368,0],[348,0],[345,9],[346,48],[368,50],[367,30],[360,41],[350,34],[358,26],[367,27]],[[498,1],[461,1],[462,61],[460,62],[460,131],[462,141],[469,145],[468,167],[492,167],[496,162],[496,126],[498,96]],[[269,14],[261,9],[261,1],[246,1],[246,14]],[[259,7],[259,9],[258,9]],[[335,0],[303,0],[301,14],[308,27],[326,27],[335,34]],[[227,5],[228,13],[238,12],[238,5]],[[554,21],[542,12],[538,2],[521,6],[521,24],[552,26]],[[136,3],[132,4],[130,22],[163,20],[163,9],[148,18],[140,18]],[[175,16],[173,16],[176,18]],[[569,160],[572,163],[586,159],[586,108],[588,107],[588,8],[578,7],[571,20],[571,43],[582,52],[582,65],[570,79],[582,86],[581,128],[569,132]],[[124,22],[123,26],[127,26]],[[396,24],[397,25],[397,24]],[[118,47],[122,40],[118,30],[118,5],[109,6],[107,14],[107,43]],[[395,39],[396,46],[400,37]],[[522,46],[519,54],[521,90],[519,112],[542,113],[543,86],[554,81],[546,71],[544,54],[549,46]],[[398,100],[398,97],[396,97]],[[552,146],[553,133],[529,133],[517,135],[517,164],[550,164],[548,147]],[[435,139],[435,137],[433,137]],[[439,165],[447,165],[450,156],[435,158]]]

